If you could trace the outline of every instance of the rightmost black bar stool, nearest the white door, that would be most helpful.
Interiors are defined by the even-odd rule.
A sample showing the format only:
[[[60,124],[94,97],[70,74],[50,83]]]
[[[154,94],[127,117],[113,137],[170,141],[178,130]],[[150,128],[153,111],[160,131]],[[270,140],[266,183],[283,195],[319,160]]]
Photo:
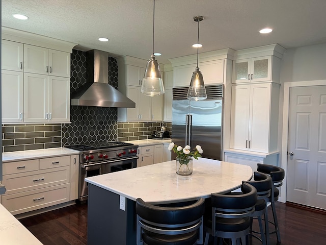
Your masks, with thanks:
[[[270,220],[268,220],[268,222],[274,225],[275,230],[273,232],[269,232],[269,234],[276,233],[277,241],[281,242],[279,223],[277,221],[277,215],[276,215],[276,210],[275,210],[275,202],[277,202],[277,200],[279,200],[280,191],[277,187],[282,186],[282,181],[283,181],[284,175],[285,175],[284,169],[281,167],[273,166],[273,165],[258,163],[257,170],[261,173],[270,175],[271,180],[273,181],[273,185],[271,187],[271,193],[270,193],[270,197],[269,197],[269,202],[270,202],[270,206],[271,206],[271,211],[273,212],[274,221],[271,222]],[[266,233],[268,233],[268,232],[266,231]]]

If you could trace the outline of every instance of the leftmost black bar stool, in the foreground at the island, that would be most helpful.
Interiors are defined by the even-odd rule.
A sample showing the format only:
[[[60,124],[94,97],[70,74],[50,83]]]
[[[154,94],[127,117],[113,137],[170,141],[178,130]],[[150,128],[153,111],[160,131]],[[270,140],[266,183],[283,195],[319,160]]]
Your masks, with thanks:
[[[204,199],[176,205],[165,207],[136,200],[137,245],[202,244]]]

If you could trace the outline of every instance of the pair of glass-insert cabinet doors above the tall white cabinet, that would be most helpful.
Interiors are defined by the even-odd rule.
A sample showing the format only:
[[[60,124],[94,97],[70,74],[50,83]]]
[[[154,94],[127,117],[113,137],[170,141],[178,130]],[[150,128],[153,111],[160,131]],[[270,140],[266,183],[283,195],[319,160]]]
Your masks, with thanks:
[[[271,56],[233,61],[233,83],[271,80]]]

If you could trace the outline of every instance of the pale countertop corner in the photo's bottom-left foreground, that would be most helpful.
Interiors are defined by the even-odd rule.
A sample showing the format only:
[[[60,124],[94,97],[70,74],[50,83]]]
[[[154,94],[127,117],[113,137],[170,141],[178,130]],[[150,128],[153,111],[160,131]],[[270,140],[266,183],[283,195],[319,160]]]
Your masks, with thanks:
[[[8,245],[42,245],[7,209],[0,204],[0,243]]]

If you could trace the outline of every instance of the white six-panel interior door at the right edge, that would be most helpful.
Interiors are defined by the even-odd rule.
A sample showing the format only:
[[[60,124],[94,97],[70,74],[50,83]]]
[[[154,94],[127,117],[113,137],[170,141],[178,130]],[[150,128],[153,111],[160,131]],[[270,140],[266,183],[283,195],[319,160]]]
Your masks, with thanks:
[[[326,86],[290,88],[288,152],[287,201],[326,209]]]

